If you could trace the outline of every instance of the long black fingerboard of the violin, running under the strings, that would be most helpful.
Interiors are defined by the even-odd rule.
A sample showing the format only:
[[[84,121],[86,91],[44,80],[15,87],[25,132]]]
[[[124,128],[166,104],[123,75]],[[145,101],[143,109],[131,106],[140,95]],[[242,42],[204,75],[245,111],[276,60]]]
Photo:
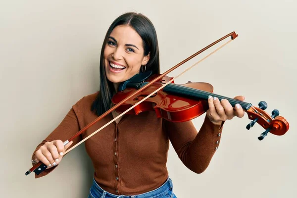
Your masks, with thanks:
[[[228,97],[224,97],[221,95],[217,95],[217,94],[213,94],[211,92],[206,92],[206,91],[202,91],[202,90],[197,90],[191,87],[185,87],[182,85],[177,85],[174,83],[170,83],[168,85],[166,85],[163,89],[164,92],[170,92],[170,93],[174,93],[180,96],[186,96],[192,99],[208,99],[208,96],[212,96],[212,97],[216,97],[219,100],[221,99],[227,99],[230,104],[235,107],[235,104],[240,104],[244,110],[248,110],[252,104],[251,103],[247,103],[244,102],[242,100],[238,100],[238,99],[232,99],[232,98],[228,98]]]

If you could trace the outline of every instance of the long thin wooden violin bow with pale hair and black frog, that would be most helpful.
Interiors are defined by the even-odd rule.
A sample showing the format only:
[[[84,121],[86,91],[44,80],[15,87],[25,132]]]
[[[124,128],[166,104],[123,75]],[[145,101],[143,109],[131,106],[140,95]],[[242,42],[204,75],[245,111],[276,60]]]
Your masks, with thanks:
[[[170,81],[168,81],[166,84],[164,84],[162,87],[158,88],[157,90],[155,90],[154,92],[152,92],[151,94],[149,94],[146,98],[140,100],[139,102],[137,102],[136,104],[134,104],[133,106],[131,106],[129,109],[127,109],[126,111],[124,111],[123,113],[121,113],[120,115],[118,115],[117,117],[115,117],[114,119],[112,119],[111,121],[109,121],[108,123],[106,123],[104,126],[102,126],[101,128],[99,128],[97,131],[93,132],[91,135],[89,135],[88,137],[86,137],[85,139],[83,139],[82,141],[80,141],[79,143],[77,143],[76,145],[74,145],[73,147],[69,148],[68,150],[65,151],[64,156],[66,153],[68,153],[70,150],[72,150],[73,148],[79,146],[80,144],[82,144],[83,142],[85,142],[86,140],[88,140],[89,138],[91,138],[92,136],[94,136],[96,133],[98,133],[100,130],[102,130],[103,128],[105,128],[107,125],[109,125],[110,123],[112,123],[114,120],[118,119],[119,117],[121,117],[122,115],[124,115],[126,112],[128,112],[129,110],[133,109],[135,106],[137,106],[138,104],[140,104],[141,102],[143,102],[144,100],[148,99],[150,96],[152,96],[154,93],[158,92],[159,90],[161,90],[163,87],[165,87],[166,85],[168,85],[169,83],[171,83],[173,80],[175,80],[176,78],[178,78],[179,76],[181,76],[182,74],[184,74],[186,71],[188,71],[189,69],[191,69],[192,67],[194,67],[195,65],[197,65],[198,63],[200,63],[201,61],[203,61],[204,59],[206,59],[207,57],[209,57],[211,54],[213,54],[214,52],[218,51],[219,49],[221,49],[222,47],[224,47],[225,45],[227,45],[228,43],[230,43],[232,40],[236,39],[238,37],[238,34],[236,34],[235,32],[231,32],[229,34],[227,34],[226,36],[218,39],[217,41],[213,42],[212,44],[206,46],[203,49],[200,49],[198,52],[194,53],[193,55],[189,56],[188,58],[186,58],[185,60],[181,61],[180,63],[176,64],[175,66],[173,66],[172,68],[168,69],[166,72],[164,72],[163,74],[157,76],[156,78],[154,78],[153,80],[151,80],[148,84],[146,84],[145,86],[139,88],[136,92],[134,92],[134,94],[131,94],[129,97],[127,97],[126,99],[123,99],[122,101],[120,101],[119,103],[117,103],[116,105],[112,106],[110,109],[108,109],[106,112],[104,112],[102,115],[100,115],[98,118],[96,118],[94,121],[92,121],[91,123],[89,123],[87,126],[85,126],[83,129],[81,129],[79,132],[77,132],[76,134],[74,134],[72,137],[70,137],[68,140],[66,140],[65,142],[63,142],[63,145],[67,145],[69,142],[71,142],[72,140],[74,140],[75,138],[77,138],[79,135],[81,135],[83,132],[85,132],[88,128],[90,128],[91,126],[93,126],[95,123],[97,123],[99,120],[101,120],[103,117],[105,117],[106,115],[108,115],[110,112],[112,112],[113,110],[115,110],[118,106],[120,106],[121,104],[123,104],[125,101],[127,101],[128,99],[136,96],[137,94],[139,94],[140,92],[142,92],[143,90],[145,90],[146,88],[148,88],[148,86],[152,85],[153,83],[157,82],[158,80],[162,79],[164,76],[166,76],[168,73],[172,72],[173,70],[175,70],[176,68],[178,68],[179,66],[181,66],[182,64],[184,64],[185,62],[191,60],[192,58],[194,58],[195,56],[197,56],[198,54],[200,54],[201,52],[205,51],[206,49],[211,48],[212,46],[216,45],[217,43],[223,41],[224,39],[228,38],[231,36],[231,40],[226,42],[225,44],[223,44],[222,46],[220,46],[219,48],[215,49],[214,51],[212,51],[211,53],[209,53],[208,55],[206,55],[204,58],[202,58],[201,60],[199,60],[197,63],[195,63],[194,65],[192,65],[191,67],[189,67],[188,69],[186,69],[185,71],[183,71],[182,73],[180,73],[178,76],[172,78]],[[268,133],[268,132],[267,132]],[[30,168],[25,175],[29,175],[31,172],[35,172],[37,175],[39,175],[41,172],[43,172],[48,166],[45,165],[43,162],[39,161],[36,165],[34,165],[32,168]]]

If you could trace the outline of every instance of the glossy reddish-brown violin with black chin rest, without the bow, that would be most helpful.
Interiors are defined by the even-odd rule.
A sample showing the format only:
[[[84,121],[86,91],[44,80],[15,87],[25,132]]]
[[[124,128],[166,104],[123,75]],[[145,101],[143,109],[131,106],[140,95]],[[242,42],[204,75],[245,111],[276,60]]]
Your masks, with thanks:
[[[158,74],[151,75],[151,73],[151,71],[148,71],[135,75],[130,80],[122,83],[119,86],[119,92],[115,94],[111,101],[114,104],[119,103],[122,99],[128,98],[130,95],[134,94],[137,89],[145,86],[148,82],[159,76]],[[138,101],[147,97],[154,90],[159,89],[169,80],[173,80],[173,78],[168,76],[163,77],[144,91],[138,93],[136,97],[125,101],[116,111],[123,113]],[[235,104],[239,103],[244,111],[247,112],[248,118],[252,120],[247,124],[247,130],[253,127],[256,122],[266,129],[258,137],[258,140],[263,140],[268,132],[281,136],[289,130],[289,122],[279,115],[278,109],[274,109],[271,116],[264,111],[267,108],[265,101],[260,101],[258,103],[259,107],[254,107],[251,103],[242,100],[213,94],[213,86],[204,82],[192,83],[189,81],[186,84],[179,85],[172,81],[160,91],[146,99],[146,101],[131,110],[129,109],[126,114],[137,115],[144,111],[154,110],[157,118],[163,118],[171,122],[185,122],[197,118],[207,111],[208,96],[217,97],[220,100],[228,99],[233,107],[235,107]]]

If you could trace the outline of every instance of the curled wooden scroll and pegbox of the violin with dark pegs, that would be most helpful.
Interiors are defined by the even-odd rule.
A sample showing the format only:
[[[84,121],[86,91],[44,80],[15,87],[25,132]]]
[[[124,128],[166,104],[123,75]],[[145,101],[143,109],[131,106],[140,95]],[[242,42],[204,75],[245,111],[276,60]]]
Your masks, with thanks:
[[[265,131],[261,133],[258,140],[263,140],[268,133],[282,136],[289,130],[289,122],[282,116],[278,109],[274,109],[271,112],[271,116],[264,110],[267,108],[267,103],[265,101],[259,102],[259,107],[252,106],[247,110],[248,119],[252,120],[247,125],[247,130],[254,126],[257,122],[261,125]]]

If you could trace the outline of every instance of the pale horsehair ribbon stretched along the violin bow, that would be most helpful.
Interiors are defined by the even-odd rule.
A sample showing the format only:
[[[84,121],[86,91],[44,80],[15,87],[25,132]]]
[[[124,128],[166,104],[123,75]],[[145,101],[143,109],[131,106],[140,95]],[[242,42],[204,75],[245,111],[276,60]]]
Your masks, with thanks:
[[[96,133],[98,133],[99,131],[101,131],[103,128],[105,128],[106,126],[108,126],[110,123],[112,123],[114,120],[118,119],[119,117],[123,116],[126,112],[130,111],[131,109],[133,109],[135,106],[137,106],[138,104],[142,103],[144,100],[148,99],[149,97],[151,97],[153,94],[155,94],[156,92],[158,92],[159,90],[161,90],[163,87],[165,87],[166,85],[168,85],[169,83],[171,83],[172,81],[174,81],[175,79],[177,79],[179,76],[181,76],[182,74],[184,74],[186,71],[188,71],[189,69],[193,68],[194,66],[196,66],[198,63],[202,62],[203,60],[205,60],[207,57],[209,57],[210,55],[212,55],[213,53],[215,53],[216,51],[218,51],[219,49],[223,48],[224,46],[226,46],[227,44],[229,44],[231,41],[233,41],[232,39],[228,42],[226,42],[225,44],[221,45],[219,48],[215,49],[214,51],[212,51],[211,53],[209,53],[208,55],[206,55],[205,57],[203,57],[202,59],[200,59],[198,62],[196,62],[194,65],[192,65],[191,67],[187,68],[185,71],[183,71],[182,73],[180,73],[179,75],[177,75],[176,77],[172,78],[170,81],[168,81],[166,84],[164,84],[163,86],[161,86],[160,88],[158,88],[157,90],[153,91],[151,94],[149,94],[147,97],[145,97],[144,99],[140,100],[139,102],[136,102],[133,106],[131,106],[130,108],[128,108],[127,110],[125,110],[123,113],[119,114],[118,116],[116,116],[115,118],[113,118],[111,121],[109,121],[108,123],[106,123],[104,126],[102,126],[101,128],[99,128],[98,130],[96,130],[95,132],[93,132],[91,135],[89,135],[88,137],[84,138],[82,141],[80,141],[79,143],[77,143],[76,145],[74,145],[71,148],[68,148],[68,150],[65,151],[64,155],[66,153],[68,153],[69,151],[71,151],[72,149],[78,147],[80,144],[84,143],[86,140],[88,140],[89,138],[91,138],[92,136],[94,136]]]

